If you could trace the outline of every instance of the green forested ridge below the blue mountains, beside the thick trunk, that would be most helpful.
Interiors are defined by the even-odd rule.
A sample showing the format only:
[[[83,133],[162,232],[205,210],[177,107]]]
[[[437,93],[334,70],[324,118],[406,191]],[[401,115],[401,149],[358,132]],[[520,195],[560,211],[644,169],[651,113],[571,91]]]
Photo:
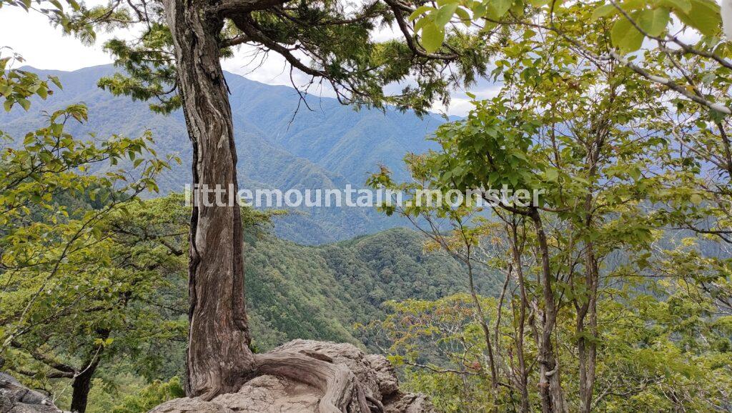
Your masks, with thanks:
[[[384,316],[381,304],[389,299],[468,291],[462,265],[426,253],[423,242],[416,231],[394,228],[320,246],[272,236],[250,243],[244,259],[256,344],[268,349],[294,338],[358,343],[354,323]],[[477,282],[485,294],[500,288],[488,272]]]

